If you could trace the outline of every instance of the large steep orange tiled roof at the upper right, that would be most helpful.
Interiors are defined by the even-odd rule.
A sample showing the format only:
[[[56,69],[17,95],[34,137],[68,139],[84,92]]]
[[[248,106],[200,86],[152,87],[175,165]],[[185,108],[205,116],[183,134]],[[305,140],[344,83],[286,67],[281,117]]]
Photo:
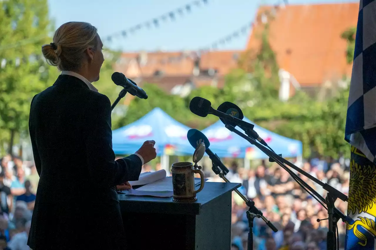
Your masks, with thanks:
[[[259,8],[248,50],[258,50],[263,29],[260,17],[271,8]],[[279,67],[293,74],[301,86],[351,75],[352,65],[346,62],[347,44],[341,34],[356,27],[358,11],[359,2],[287,5],[277,9],[269,20],[269,41]]]

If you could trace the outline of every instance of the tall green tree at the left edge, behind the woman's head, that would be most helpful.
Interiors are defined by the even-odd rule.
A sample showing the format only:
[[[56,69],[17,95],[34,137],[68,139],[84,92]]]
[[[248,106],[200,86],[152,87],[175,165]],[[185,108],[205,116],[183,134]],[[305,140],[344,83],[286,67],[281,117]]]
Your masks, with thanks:
[[[0,1],[0,139],[9,149],[27,131],[31,99],[57,74],[41,56],[49,31],[47,0]]]

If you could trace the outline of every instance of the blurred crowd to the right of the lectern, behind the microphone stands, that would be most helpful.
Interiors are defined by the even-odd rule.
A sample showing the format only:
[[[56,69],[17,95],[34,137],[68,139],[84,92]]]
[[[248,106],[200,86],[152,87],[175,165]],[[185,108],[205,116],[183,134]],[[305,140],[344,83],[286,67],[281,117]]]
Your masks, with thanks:
[[[348,195],[350,172],[344,161],[317,164],[305,162],[301,168],[332,187]],[[321,196],[326,191],[306,176],[297,173]],[[294,181],[290,174],[278,165],[246,170],[233,164],[227,174],[231,182],[240,182],[241,193],[255,202],[256,208],[277,227],[274,233],[261,218],[254,219],[254,250],[326,250],[328,231],[327,210]],[[220,181],[220,180],[215,180]],[[346,214],[347,203],[337,199],[335,206]],[[246,250],[249,224],[247,205],[241,197],[232,196],[232,248]],[[338,221],[339,246],[344,247],[346,224]]]

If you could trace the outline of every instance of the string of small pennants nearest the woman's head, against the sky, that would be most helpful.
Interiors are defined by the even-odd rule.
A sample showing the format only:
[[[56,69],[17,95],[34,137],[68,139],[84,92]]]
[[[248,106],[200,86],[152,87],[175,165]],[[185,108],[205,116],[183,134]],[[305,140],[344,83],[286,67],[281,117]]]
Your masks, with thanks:
[[[208,0],[195,0],[190,3],[186,3],[183,6],[180,6],[177,9],[166,12],[163,15],[152,18],[146,22],[136,24],[128,29],[121,30],[120,32],[114,33],[112,35],[106,36],[105,39],[108,42],[111,42],[114,38],[127,38],[135,34],[135,32],[140,31],[141,29],[151,29],[152,27],[158,28],[162,23],[170,21],[175,21],[177,17],[182,17],[184,14],[190,14],[192,9],[199,8],[200,6],[206,5]]]

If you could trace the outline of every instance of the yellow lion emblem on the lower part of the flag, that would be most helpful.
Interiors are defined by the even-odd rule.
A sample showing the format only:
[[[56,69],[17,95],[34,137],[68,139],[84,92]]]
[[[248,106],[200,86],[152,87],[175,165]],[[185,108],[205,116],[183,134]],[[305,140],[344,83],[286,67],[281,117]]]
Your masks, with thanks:
[[[358,152],[352,152],[361,155]],[[364,157],[364,155],[361,155]],[[348,201],[348,215],[355,215],[360,213],[367,213],[376,217],[376,167],[375,166],[361,166],[351,160],[350,163],[350,187],[349,187],[349,201]],[[353,229],[356,237],[361,239],[358,244],[367,245],[367,237],[358,230],[358,226],[364,227],[374,237],[376,237],[376,225],[373,219],[358,216],[359,220],[353,218],[355,221],[352,224],[347,223],[347,230]]]

